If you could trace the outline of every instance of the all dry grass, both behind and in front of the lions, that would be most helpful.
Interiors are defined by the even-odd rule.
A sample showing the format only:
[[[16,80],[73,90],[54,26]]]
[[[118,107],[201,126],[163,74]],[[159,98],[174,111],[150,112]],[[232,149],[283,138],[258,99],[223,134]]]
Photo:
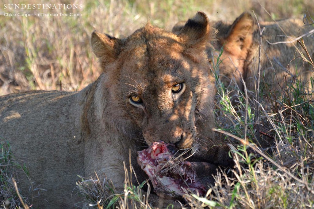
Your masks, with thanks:
[[[192,17],[198,10],[206,12],[211,20],[233,21],[242,12],[252,10],[260,21],[302,18],[304,14],[314,17],[312,0],[50,1],[56,4],[83,4],[83,16],[27,18],[4,17],[4,3],[21,2],[0,1],[0,96],[35,89],[76,91],[95,81],[101,72],[89,43],[93,30],[125,37],[142,27],[148,19],[154,25],[171,30],[176,22]],[[217,85],[219,87],[219,82]],[[276,98],[269,103],[272,112],[267,114],[260,108],[260,119],[256,121],[254,107],[251,109],[242,95],[239,95],[239,100],[243,102],[232,107],[228,94],[218,88],[216,127],[239,138],[254,139],[256,124],[262,122],[265,124],[261,129],[269,137],[264,135],[261,139],[273,143],[264,143],[268,145],[264,146],[266,156],[255,164],[250,162],[249,156],[235,152],[236,168],[229,171],[231,177],[224,173],[216,176],[216,184],[208,191],[207,199],[187,195],[185,199],[189,206],[314,208],[313,102],[304,101],[301,97],[296,97],[295,101]],[[219,138],[234,142],[232,137],[225,134]],[[0,165],[11,162],[11,154],[3,151],[4,145],[0,149],[4,153],[0,156]],[[1,183],[14,176],[14,169],[8,176],[4,174],[5,169],[0,166]],[[27,173],[21,166],[17,166],[17,169]],[[114,198],[111,196],[112,199],[106,199],[108,192],[105,192],[107,190],[101,182],[85,181],[81,187],[82,195],[91,204],[102,198],[100,204],[113,204],[116,201],[118,206],[124,207],[123,196],[127,195],[142,207],[148,207],[140,190],[133,186],[126,186],[128,193]],[[4,184],[0,191],[0,197],[14,194],[14,189],[6,188]],[[11,206],[14,207],[14,204]]]

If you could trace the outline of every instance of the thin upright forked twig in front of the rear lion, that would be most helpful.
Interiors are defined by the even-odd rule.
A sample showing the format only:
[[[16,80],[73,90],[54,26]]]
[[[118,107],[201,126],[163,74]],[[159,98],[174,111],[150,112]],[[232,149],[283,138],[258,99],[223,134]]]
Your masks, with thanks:
[[[256,89],[256,105],[255,105],[255,123],[257,124],[256,127],[256,139],[258,143],[260,144],[260,138],[259,138],[259,132],[260,132],[260,126],[259,126],[259,83],[260,83],[260,77],[261,77],[261,53],[262,53],[262,34],[265,29],[265,27],[261,30],[261,26],[259,25],[258,19],[256,17],[255,12],[253,11],[253,14],[255,16],[257,26],[258,26],[258,32],[259,32],[259,51],[258,51],[258,73],[257,73],[257,89]]]

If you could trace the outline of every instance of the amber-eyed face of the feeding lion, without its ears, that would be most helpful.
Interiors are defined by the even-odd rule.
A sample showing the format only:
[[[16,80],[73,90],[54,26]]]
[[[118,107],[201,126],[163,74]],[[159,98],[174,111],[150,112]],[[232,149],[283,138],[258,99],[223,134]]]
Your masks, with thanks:
[[[141,129],[148,144],[163,140],[186,148],[195,136],[197,101],[208,80],[203,79],[205,72],[192,60],[173,52],[179,47],[176,45],[158,49],[158,43],[143,44],[142,49],[137,49],[143,51],[144,56],[140,58],[122,52],[127,60],[136,61],[122,65],[117,86],[123,90],[120,97],[129,117]],[[149,56],[155,60],[147,65]]]

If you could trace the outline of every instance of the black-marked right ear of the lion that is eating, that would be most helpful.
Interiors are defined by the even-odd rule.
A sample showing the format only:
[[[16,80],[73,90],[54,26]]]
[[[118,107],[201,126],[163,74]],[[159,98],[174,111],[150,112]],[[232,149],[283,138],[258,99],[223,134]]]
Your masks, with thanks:
[[[184,53],[194,56],[204,53],[205,48],[214,40],[215,29],[209,23],[207,15],[198,12],[189,19],[177,33],[181,42],[185,45]]]

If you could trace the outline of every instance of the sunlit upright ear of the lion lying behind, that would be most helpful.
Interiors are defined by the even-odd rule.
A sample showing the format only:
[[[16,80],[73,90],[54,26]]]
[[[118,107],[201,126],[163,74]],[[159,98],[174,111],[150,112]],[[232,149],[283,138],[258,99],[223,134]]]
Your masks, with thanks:
[[[226,46],[232,47],[232,51],[240,52],[250,48],[255,30],[255,22],[250,13],[242,13],[233,24],[225,38]]]

